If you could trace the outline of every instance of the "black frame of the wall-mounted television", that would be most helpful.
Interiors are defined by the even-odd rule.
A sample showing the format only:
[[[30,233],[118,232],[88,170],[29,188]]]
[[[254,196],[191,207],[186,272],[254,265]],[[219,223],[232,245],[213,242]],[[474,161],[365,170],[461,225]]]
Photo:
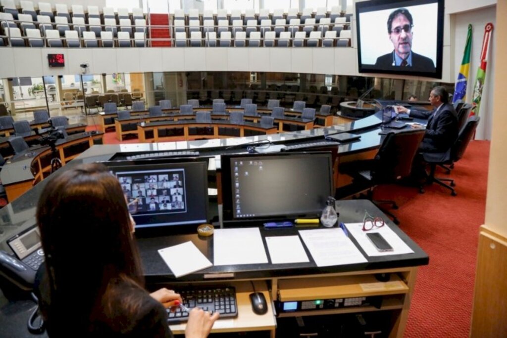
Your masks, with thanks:
[[[357,32],[357,67],[359,73],[372,73],[372,74],[396,74],[396,75],[412,75],[431,78],[442,78],[442,64],[443,64],[443,50],[444,50],[444,1],[445,0],[370,0],[355,3],[355,18],[356,18],[356,32]],[[379,69],[375,66],[365,67],[361,61],[361,32],[360,32],[360,19],[359,12],[370,12],[365,9],[377,8],[377,10],[396,9],[410,6],[418,6],[425,4],[437,3],[437,58],[434,72],[422,72],[412,70],[397,70],[397,69]],[[380,8],[379,8],[380,7]],[[374,9],[372,9],[374,10]],[[382,27],[382,29],[385,29]],[[402,69],[400,67],[400,69]]]

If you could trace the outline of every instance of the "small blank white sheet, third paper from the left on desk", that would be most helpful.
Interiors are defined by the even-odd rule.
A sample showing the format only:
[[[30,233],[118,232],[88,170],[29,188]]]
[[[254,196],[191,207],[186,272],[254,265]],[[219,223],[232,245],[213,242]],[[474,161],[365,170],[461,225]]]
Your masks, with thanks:
[[[310,262],[299,236],[265,237],[272,264]]]

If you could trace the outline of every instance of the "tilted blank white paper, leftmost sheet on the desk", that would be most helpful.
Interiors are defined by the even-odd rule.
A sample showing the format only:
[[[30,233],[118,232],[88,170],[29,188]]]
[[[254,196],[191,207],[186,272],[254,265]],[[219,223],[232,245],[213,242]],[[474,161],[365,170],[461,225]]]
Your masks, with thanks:
[[[176,278],[213,266],[191,241],[158,251]]]

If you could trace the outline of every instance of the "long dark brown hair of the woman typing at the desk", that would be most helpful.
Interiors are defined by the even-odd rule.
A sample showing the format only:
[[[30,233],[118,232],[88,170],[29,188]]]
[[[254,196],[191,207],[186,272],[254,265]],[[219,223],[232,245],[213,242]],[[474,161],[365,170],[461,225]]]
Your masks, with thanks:
[[[50,285],[44,317],[53,328],[73,325],[86,332],[100,315],[94,310],[108,305],[108,284],[143,286],[125,197],[104,165],[79,165],[50,178],[37,222]]]

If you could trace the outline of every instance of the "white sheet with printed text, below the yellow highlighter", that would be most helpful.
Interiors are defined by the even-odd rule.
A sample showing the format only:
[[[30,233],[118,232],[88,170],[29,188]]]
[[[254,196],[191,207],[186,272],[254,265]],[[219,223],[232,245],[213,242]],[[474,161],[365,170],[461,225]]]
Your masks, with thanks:
[[[318,267],[367,262],[340,228],[300,230],[299,234]]]

